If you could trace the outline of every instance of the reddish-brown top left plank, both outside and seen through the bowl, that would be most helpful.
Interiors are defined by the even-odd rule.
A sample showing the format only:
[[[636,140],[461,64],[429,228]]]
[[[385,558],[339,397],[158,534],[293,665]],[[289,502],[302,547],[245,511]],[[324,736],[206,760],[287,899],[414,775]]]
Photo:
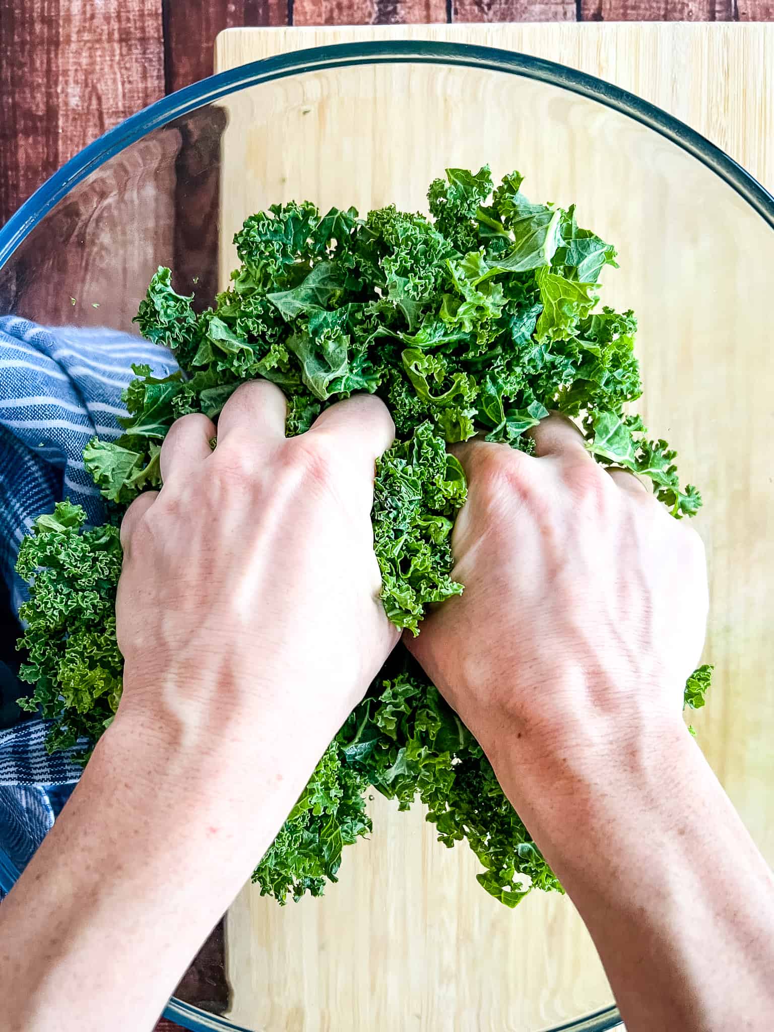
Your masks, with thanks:
[[[157,0],[129,11],[118,0],[33,0],[8,13],[4,6],[0,47],[13,61],[0,61],[0,104],[9,109],[0,122],[0,218],[96,136],[158,99],[164,86]],[[101,316],[92,304],[110,297],[129,329],[137,278],[152,271],[157,255],[171,257],[172,187],[163,172],[155,175],[171,160],[169,146],[176,146],[169,134],[146,140],[73,191],[25,240],[14,294],[3,303],[49,324],[77,315],[94,325]],[[34,248],[38,275],[28,279],[25,255]],[[71,289],[52,291],[40,253],[56,282]],[[76,311],[68,311],[69,294]]]

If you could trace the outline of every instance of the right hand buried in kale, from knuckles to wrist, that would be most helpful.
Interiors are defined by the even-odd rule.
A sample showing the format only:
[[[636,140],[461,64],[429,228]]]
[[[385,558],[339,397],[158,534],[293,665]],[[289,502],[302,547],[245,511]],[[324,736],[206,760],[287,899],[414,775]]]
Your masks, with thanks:
[[[588,753],[677,723],[704,642],[699,536],[632,474],[594,462],[570,420],[534,436],[535,456],[455,449],[464,593],[407,640],[490,759],[516,738]]]

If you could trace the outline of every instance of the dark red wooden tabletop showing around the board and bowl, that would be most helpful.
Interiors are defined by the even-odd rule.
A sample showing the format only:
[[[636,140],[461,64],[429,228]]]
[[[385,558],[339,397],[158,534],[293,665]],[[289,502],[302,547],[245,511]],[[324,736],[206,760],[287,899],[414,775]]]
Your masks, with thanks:
[[[0,0],[0,224],[100,133],[211,74],[222,29],[771,20],[774,0]],[[206,1009],[225,1006],[222,926],[181,995]],[[162,1021],[157,1032],[178,1029]]]

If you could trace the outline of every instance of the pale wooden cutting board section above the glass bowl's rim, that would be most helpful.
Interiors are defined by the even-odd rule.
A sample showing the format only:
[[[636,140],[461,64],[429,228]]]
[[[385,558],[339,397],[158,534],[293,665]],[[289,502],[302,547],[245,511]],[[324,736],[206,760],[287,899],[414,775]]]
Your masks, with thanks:
[[[649,100],[774,190],[774,24],[542,23],[227,29],[215,70],[308,46],[433,39],[556,61]]]

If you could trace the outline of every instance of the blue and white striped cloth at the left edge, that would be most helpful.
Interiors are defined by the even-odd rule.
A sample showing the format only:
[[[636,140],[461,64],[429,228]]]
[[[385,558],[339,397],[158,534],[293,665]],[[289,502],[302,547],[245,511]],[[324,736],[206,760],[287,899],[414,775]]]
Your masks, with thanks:
[[[121,392],[132,363],[157,377],[174,372],[168,352],[106,328],[45,328],[0,317],[0,576],[18,612],[27,588],[14,572],[19,546],[33,521],[69,497],[90,523],[103,518],[83,450],[98,434],[121,434]],[[27,720],[0,732],[0,861],[18,870],[40,844],[79,768],[43,747],[46,725]],[[6,864],[6,870],[8,865]],[[7,881],[7,878],[6,878]],[[2,894],[0,863],[0,895]]]

